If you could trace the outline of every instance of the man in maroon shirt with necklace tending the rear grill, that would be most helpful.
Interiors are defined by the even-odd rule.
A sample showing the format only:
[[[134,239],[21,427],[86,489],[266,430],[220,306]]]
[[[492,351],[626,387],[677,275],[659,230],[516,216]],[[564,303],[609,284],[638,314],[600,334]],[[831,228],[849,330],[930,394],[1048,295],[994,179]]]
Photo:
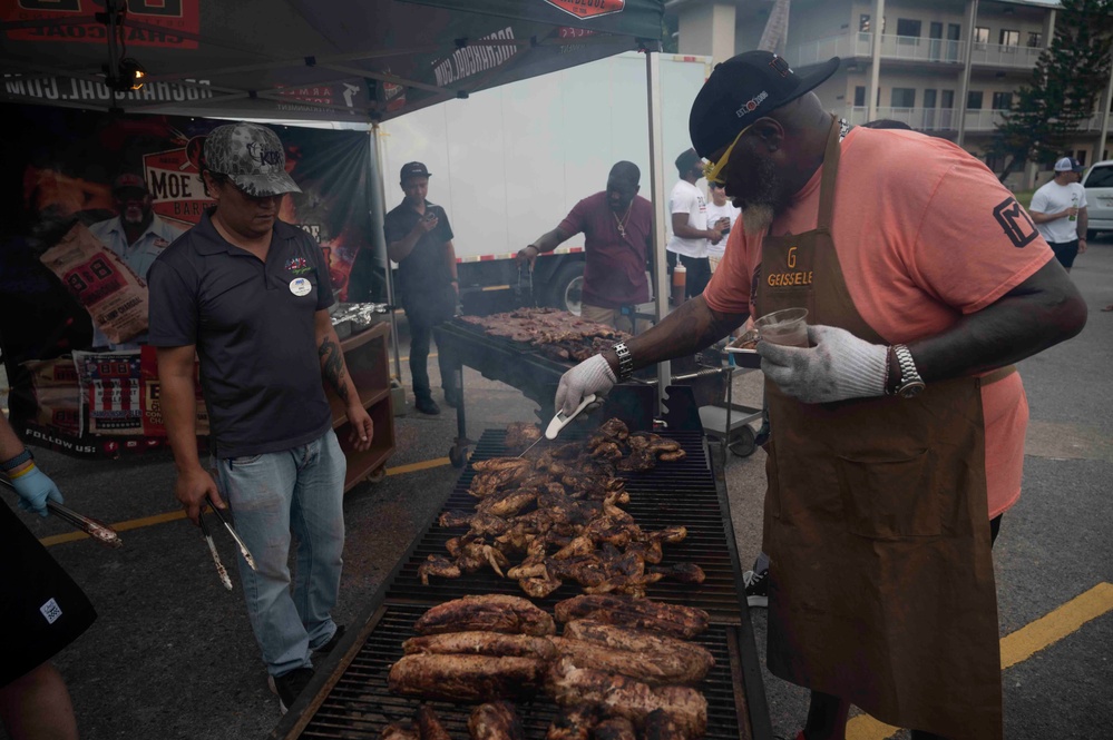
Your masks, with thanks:
[[[559,226],[518,251],[518,260],[533,266],[537,255],[583,233],[587,262],[580,316],[631,333],[644,328],[634,324],[634,306],[650,299],[645,266],[653,206],[637,195],[641,177],[634,162],[617,162],[606,190],[577,203]]]

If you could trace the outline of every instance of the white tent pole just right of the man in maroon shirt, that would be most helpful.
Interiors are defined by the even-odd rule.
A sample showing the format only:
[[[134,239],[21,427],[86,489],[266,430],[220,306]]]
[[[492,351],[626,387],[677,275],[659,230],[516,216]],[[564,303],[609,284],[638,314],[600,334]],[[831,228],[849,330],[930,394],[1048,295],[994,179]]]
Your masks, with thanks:
[[[664,129],[661,118],[661,55],[645,50],[645,86],[650,127],[650,203],[653,204],[653,297],[654,315],[660,324],[668,314],[668,269],[665,255],[665,171],[661,154],[664,150]],[[672,384],[672,363],[657,363],[657,413],[665,413],[665,392]]]

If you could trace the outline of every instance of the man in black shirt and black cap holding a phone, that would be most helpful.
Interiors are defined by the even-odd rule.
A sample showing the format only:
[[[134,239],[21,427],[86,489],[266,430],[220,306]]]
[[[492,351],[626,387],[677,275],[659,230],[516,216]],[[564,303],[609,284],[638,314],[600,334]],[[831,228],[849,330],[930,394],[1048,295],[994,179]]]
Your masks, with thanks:
[[[410,323],[410,375],[414,407],[422,414],[439,414],[429,387],[429,339],[432,328],[456,313],[460,283],[456,277],[452,227],[440,206],[426,200],[429,170],[419,161],[402,166],[400,185],[406,198],[387,214],[383,234],[387,254],[398,263],[398,287]],[[445,403],[456,406],[452,367],[443,354],[437,356]]]

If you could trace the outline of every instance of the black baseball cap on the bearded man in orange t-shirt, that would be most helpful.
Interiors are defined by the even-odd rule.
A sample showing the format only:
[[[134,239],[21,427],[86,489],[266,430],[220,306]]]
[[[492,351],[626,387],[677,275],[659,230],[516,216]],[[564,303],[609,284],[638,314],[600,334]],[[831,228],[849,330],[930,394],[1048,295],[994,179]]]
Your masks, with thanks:
[[[753,121],[819,87],[838,68],[839,58],[832,57],[807,75],[797,75],[783,57],[770,51],[744,51],[715,65],[687,120],[695,150],[710,157]]]

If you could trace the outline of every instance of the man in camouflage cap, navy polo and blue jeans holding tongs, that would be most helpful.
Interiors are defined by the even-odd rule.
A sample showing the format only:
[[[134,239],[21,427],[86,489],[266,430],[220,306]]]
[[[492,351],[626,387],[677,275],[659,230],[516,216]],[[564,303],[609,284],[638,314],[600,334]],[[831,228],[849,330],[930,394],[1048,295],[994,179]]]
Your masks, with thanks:
[[[257,568],[238,559],[247,612],[283,712],[313,678],[312,653],[331,650],[342,634],[332,609],[346,460],[322,379],[344,401],[355,450],[370,447],[373,431],[332,328],[321,247],[277,218],[283,195],[301,193],[285,164],[282,142],[265,126],[213,129],[201,174],[216,206],[148,276],[148,342],[158,348],[175,494],[195,524],[206,500],[235,512]],[[219,484],[197,454],[195,355]]]

